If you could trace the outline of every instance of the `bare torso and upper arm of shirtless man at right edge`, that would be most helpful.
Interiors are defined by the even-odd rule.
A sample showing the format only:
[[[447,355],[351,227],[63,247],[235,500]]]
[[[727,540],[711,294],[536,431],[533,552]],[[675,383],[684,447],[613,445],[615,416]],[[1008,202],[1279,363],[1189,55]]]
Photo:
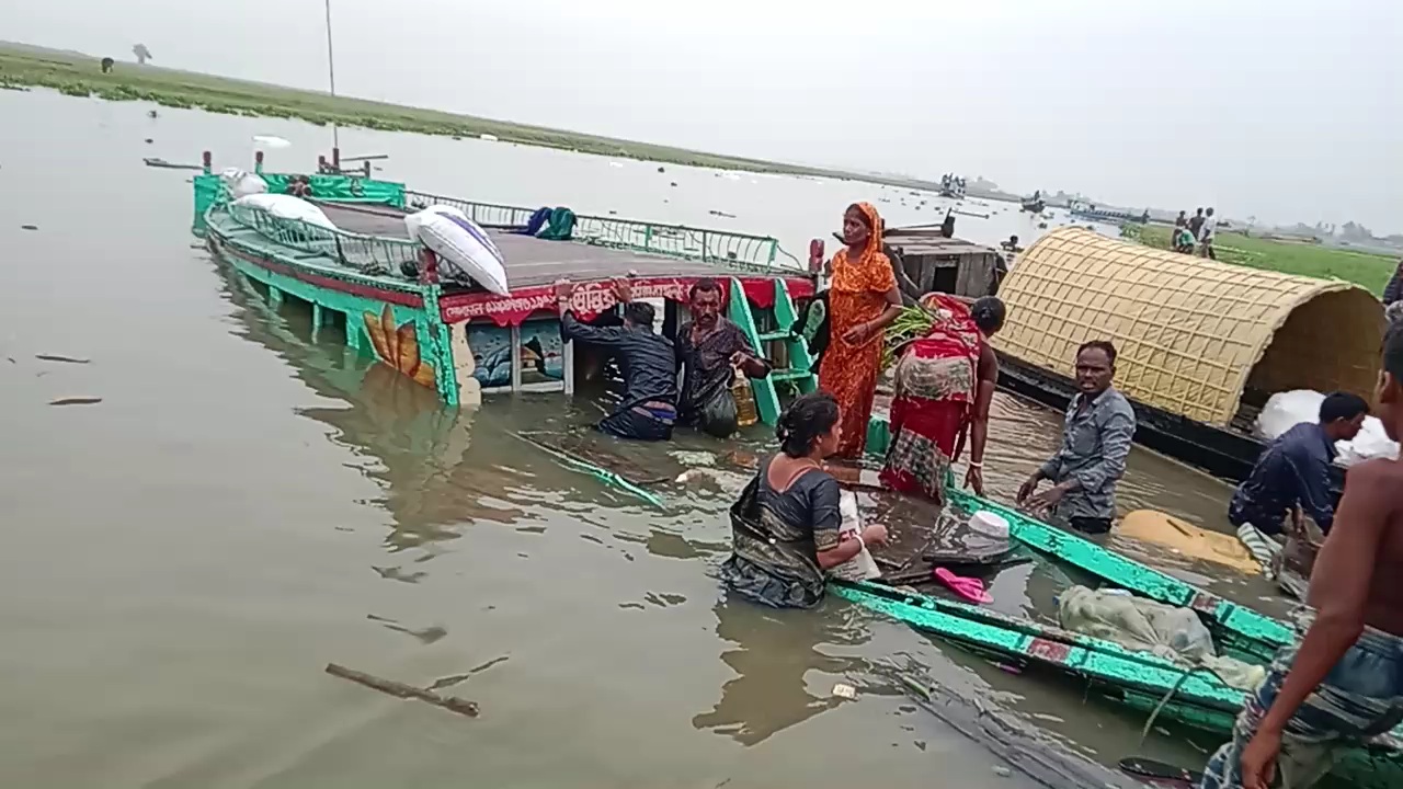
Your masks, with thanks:
[[[1367,460],[1350,469],[1344,498],[1310,574],[1306,602],[1331,608],[1369,576],[1364,623],[1403,636],[1403,462]],[[1331,546],[1331,543],[1334,543]]]

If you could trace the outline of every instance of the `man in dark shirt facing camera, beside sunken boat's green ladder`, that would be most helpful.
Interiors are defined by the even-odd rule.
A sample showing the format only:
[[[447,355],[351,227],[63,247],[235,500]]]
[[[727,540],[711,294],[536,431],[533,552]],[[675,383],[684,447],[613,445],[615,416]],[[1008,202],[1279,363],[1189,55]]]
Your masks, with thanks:
[[[721,284],[716,279],[692,285],[687,302],[692,321],[678,329],[676,343],[678,365],[685,368],[678,420],[717,438],[727,438],[737,428],[731,396],[735,368],[749,378],[770,373],[770,364],[756,355],[741,327],[721,317],[723,303]]]

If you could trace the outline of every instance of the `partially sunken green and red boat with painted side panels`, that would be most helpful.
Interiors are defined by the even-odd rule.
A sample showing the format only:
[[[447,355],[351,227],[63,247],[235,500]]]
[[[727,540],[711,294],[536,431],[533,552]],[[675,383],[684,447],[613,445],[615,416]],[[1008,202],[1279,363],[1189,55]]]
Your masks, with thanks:
[[[773,424],[779,416],[776,385],[817,386],[804,341],[788,333],[794,299],[811,296],[814,279],[798,261],[781,261],[774,239],[581,215],[568,240],[546,240],[525,232],[537,209],[349,174],[260,168],[269,192],[297,191],[325,213],[335,226],[328,229],[236,205],[209,161],[206,153],[194,180],[194,230],[215,256],[267,288],[274,303],[309,303],[316,329],[338,327],[348,345],[448,404],[476,404],[490,392],[574,392],[584,354],[560,337],[553,284],[561,278],[579,284],[572,306],[588,320],[616,306],[609,282],[629,277],[636,299],[655,302],[664,331],[685,319],[692,285],[716,279],[730,317],[779,362],[753,383],[760,418]],[[487,230],[505,260],[506,295],[439,275],[438,256],[404,223],[429,205],[457,208]]]

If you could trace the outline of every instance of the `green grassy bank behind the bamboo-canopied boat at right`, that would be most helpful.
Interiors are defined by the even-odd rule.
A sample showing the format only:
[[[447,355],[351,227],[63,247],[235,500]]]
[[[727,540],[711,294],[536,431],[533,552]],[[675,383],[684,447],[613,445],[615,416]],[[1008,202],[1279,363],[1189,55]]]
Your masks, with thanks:
[[[1125,226],[1122,234],[1142,244],[1167,250],[1170,229],[1159,225]],[[1251,268],[1266,268],[1282,274],[1298,274],[1317,279],[1345,279],[1368,288],[1375,295],[1397,268],[1392,257],[1324,247],[1309,243],[1271,241],[1240,233],[1219,233],[1214,243],[1218,260]]]

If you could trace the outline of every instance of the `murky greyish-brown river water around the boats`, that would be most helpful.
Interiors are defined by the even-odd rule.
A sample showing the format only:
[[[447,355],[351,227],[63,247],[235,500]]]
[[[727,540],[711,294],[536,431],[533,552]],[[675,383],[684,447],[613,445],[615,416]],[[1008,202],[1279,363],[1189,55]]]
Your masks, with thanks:
[[[275,314],[192,247],[185,174],[140,163],[210,147],[216,166],[244,164],[250,135],[276,133],[295,145],[269,168],[300,170],[327,129],[146,110],[0,91],[0,783],[1024,785],[912,706],[888,656],[1100,761],[1194,764],[1212,744],[1138,747],[1136,716],[1075,685],[1005,674],[840,601],[727,602],[713,574],[725,484],[644,507],[508,432],[585,423],[589,403],[445,411],[335,337],[310,343],[306,314]],[[730,226],[796,253],[884,194],[476,140],[342,132],[342,147],[390,153],[383,175],[425,191]],[[939,219],[892,201],[894,223]],[[1016,206],[992,209],[960,234],[1037,234]],[[48,404],[65,396],[102,402]],[[1007,497],[1055,446],[1058,416],[1003,396],[995,411],[991,483]],[[763,448],[763,432],[748,442]],[[638,451],[664,465],[723,448]],[[1121,505],[1218,525],[1226,496],[1136,449]],[[1065,583],[1023,566],[993,594],[1048,611]],[[328,661],[445,679],[483,715],[389,699],[327,677]],[[839,681],[859,698],[835,698]]]

